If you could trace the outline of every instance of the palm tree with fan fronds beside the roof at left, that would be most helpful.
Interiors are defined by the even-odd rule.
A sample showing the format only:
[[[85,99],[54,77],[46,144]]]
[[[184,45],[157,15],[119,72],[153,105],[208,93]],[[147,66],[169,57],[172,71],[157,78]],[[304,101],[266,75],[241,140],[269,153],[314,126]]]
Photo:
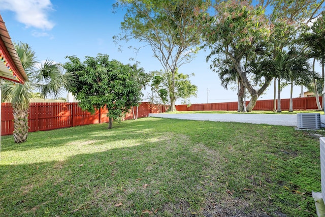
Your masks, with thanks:
[[[1,84],[3,98],[10,101],[14,115],[14,140],[16,143],[25,142],[28,136],[28,109],[29,98],[34,89],[40,89],[42,95],[58,96],[64,85],[68,85],[58,64],[46,60],[44,64],[37,67],[35,52],[26,43],[14,43],[22,66],[28,76],[29,81],[24,85],[5,81]]]

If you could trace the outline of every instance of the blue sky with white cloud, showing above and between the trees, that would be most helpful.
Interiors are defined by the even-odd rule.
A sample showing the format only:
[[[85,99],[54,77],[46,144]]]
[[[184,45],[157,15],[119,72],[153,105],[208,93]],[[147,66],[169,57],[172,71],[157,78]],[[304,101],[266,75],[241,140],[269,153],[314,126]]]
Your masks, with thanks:
[[[137,41],[120,42],[123,49],[118,51],[112,37],[120,33],[120,22],[123,10],[112,13],[115,1],[84,0],[0,0],[2,15],[13,41],[29,44],[35,50],[39,61],[49,58],[57,63],[65,63],[67,55],[76,55],[83,60],[85,56],[96,56],[98,53],[108,54],[123,64],[140,62],[146,72],[163,69],[158,60],[152,57],[149,46],[138,53],[128,49],[139,47]],[[210,70],[203,50],[191,63],[179,68],[184,74],[194,73],[191,82],[198,86],[198,97],[191,98],[194,103],[237,101],[235,90],[225,90],[218,75]],[[133,58],[135,60],[129,60]],[[260,100],[273,99],[273,85]],[[147,92],[150,88],[147,88]],[[300,87],[294,88],[294,98],[300,94]],[[281,98],[289,98],[289,89],[282,91]],[[66,97],[66,96],[64,96]],[[146,101],[146,100],[144,100]],[[180,104],[180,101],[177,101]]]

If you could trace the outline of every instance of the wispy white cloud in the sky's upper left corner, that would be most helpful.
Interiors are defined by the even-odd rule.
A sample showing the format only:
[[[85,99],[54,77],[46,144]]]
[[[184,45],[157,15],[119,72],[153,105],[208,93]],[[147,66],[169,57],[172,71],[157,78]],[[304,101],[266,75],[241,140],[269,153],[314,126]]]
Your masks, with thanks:
[[[48,20],[47,13],[52,11],[50,0],[0,0],[1,10],[15,12],[16,19],[26,27],[50,30],[54,23]]]

